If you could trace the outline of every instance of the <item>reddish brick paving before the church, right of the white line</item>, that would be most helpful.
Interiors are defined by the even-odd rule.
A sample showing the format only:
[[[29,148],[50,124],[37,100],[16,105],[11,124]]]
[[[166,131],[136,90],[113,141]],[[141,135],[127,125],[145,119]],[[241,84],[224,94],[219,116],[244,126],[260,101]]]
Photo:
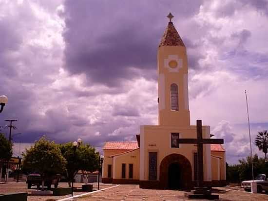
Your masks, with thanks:
[[[220,201],[268,201],[268,195],[251,194],[235,187],[217,187],[212,192],[220,196]],[[176,190],[140,189],[138,185],[119,185],[77,201],[187,201],[184,193]]]

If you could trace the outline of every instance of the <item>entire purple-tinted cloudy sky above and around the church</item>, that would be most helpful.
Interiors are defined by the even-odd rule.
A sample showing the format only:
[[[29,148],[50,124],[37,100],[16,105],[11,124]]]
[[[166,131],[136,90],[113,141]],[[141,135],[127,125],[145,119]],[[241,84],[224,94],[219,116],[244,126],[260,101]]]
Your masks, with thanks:
[[[18,119],[17,142],[135,140],[157,124],[169,12],[187,47],[191,124],[225,139],[227,161],[249,155],[245,89],[252,138],[268,129],[268,0],[0,0],[0,125]]]

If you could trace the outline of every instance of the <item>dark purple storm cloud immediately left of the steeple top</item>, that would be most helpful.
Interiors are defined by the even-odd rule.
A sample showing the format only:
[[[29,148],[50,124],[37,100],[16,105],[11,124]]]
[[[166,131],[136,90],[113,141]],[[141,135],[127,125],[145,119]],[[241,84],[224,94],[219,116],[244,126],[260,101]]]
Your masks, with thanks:
[[[133,67],[150,78],[145,73],[156,69],[157,45],[168,21],[165,16],[172,12],[175,20],[182,20],[199,6],[199,1],[67,0],[63,14],[66,69],[85,73],[91,84],[109,86],[142,76]]]

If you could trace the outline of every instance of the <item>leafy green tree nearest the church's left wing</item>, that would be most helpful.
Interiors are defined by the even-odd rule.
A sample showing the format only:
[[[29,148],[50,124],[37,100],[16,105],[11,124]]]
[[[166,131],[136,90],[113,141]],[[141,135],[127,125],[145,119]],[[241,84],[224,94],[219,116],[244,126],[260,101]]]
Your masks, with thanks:
[[[72,142],[60,144],[59,147],[67,161],[65,176],[69,186],[71,186],[71,181],[76,176],[78,170],[92,172],[98,168],[99,154],[89,144],[82,143],[76,150],[74,150]]]

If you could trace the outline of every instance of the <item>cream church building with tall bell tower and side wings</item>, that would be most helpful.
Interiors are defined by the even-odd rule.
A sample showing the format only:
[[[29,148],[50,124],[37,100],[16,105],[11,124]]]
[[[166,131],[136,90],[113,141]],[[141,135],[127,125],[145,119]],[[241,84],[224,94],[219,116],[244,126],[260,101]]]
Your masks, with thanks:
[[[107,141],[103,147],[102,182],[139,184],[141,188],[189,189],[197,182],[197,146],[179,139],[196,139],[190,125],[188,60],[185,44],[172,15],[157,52],[158,125],[141,125],[136,141]],[[210,126],[202,126],[210,139]],[[226,183],[225,150],[203,144],[204,183]]]

